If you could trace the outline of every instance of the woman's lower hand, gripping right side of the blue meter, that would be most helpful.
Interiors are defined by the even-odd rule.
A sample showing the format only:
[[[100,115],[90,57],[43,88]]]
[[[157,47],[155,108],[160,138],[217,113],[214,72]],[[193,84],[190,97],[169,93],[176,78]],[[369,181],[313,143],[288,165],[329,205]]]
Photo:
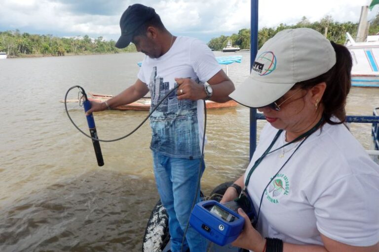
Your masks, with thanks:
[[[263,238],[257,230],[255,230],[249,220],[249,217],[241,208],[238,208],[238,214],[245,219],[245,224],[241,234],[234,242],[231,243],[231,245],[255,252],[263,251],[265,248],[266,239]]]

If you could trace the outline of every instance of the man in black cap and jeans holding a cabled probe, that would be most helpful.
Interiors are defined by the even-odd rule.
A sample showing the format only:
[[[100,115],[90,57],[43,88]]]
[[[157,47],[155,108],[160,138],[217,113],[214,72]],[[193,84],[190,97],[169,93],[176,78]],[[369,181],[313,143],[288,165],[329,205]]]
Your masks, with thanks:
[[[179,252],[196,191],[204,171],[201,146],[204,134],[203,99],[226,102],[234,85],[217,63],[209,47],[198,39],[174,36],[166,30],[151,7],[129,6],[120,19],[121,36],[116,47],[133,42],[146,55],[131,87],[104,103],[91,103],[87,113],[128,104],[149,91],[151,108],[176,85],[150,117],[151,150],[157,189],[169,215],[171,251]],[[192,227],[186,233],[184,250],[205,252],[205,238]]]

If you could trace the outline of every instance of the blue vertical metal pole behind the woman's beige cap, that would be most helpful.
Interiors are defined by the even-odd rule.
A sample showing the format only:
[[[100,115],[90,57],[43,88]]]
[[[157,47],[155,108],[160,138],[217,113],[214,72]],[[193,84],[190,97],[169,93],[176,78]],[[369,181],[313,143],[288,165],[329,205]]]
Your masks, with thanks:
[[[258,51],[258,0],[251,0],[250,71]],[[257,147],[257,109],[250,108],[250,159]]]

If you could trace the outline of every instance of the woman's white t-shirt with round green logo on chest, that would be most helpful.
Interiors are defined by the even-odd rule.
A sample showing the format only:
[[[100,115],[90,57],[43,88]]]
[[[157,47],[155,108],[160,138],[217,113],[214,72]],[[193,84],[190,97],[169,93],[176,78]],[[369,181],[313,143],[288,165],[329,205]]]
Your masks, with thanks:
[[[270,145],[277,129],[264,127],[245,173]],[[271,150],[283,146],[285,131]],[[310,135],[278,172],[297,143],[267,155],[253,172],[248,192],[263,237],[323,245],[320,233],[352,246],[379,241],[379,165],[343,125],[325,124]],[[293,149],[292,149],[293,148]],[[265,187],[267,188],[265,189]]]

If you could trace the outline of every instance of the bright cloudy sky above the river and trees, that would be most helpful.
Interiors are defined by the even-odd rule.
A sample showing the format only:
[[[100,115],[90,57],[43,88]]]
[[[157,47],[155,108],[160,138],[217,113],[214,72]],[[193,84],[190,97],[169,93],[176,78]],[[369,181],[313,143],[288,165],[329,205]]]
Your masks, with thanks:
[[[212,37],[250,28],[250,0],[0,0],[0,31],[16,30],[54,36],[89,35],[117,40],[119,18],[128,5],[152,6],[174,35]],[[261,0],[259,28],[311,22],[325,15],[358,22],[361,6],[371,0]],[[369,19],[378,14],[378,5]]]

